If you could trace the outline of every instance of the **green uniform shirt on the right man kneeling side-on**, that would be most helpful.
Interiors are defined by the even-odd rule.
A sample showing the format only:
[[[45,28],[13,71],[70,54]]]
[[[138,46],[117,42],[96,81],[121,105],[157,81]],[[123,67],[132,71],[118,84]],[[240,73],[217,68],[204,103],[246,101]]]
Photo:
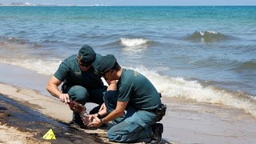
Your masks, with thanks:
[[[161,104],[153,84],[137,71],[126,69],[118,81],[118,101],[129,102],[138,110],[154,110]]]

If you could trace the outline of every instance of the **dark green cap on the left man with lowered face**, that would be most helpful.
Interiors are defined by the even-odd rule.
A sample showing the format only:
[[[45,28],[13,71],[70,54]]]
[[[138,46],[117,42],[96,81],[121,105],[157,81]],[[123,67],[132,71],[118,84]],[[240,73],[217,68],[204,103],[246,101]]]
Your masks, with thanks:
[[[90,66],[95,61],[96,53],[92,47],[85,45],[79,50],[78,57],[84,65]]]

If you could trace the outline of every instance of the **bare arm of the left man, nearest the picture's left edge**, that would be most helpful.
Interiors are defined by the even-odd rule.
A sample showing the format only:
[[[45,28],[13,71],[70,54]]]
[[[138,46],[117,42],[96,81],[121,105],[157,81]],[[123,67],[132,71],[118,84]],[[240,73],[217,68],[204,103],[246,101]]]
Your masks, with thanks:
[[[62,102],[70,102],[70,97],[68,94],[63,94],[61,90],[58,89],[58,86],[62,83],[62,81],[58,80],[58,78],[55,78],[52,76],[50,80],[47,82],[46,85],[46,90],[49,91],[49,93],[56,97],[59,98]]]

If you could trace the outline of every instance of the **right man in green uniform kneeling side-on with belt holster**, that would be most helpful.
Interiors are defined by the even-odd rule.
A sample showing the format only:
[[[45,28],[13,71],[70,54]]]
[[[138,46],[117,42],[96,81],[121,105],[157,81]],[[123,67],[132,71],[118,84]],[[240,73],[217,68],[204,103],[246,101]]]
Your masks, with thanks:
[[[113,121],[115,125],[107,133],[111,142],[161,143],[163,126],[156,122],[162,119],[166,106],[153,84],[137,71],[119,66],[111,54],[102,57],[97,69],[104,78],[118,83],[117,90],[108,90],[103,97],[109,114],[101,119],[92,115],[90,126]]]

